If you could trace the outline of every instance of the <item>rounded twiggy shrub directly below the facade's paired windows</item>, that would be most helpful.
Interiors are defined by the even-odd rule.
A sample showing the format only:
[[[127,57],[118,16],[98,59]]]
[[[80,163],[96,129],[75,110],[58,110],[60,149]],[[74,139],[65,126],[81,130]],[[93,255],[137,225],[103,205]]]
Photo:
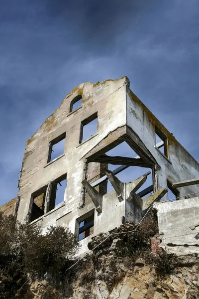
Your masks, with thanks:
[[[79,248],[78,241],[68,229],[51,226],[45,235],[39,234],[31,244],[26,242],[24,263],[26,271],[44,275],[51,273],[60,280],[68,261]]]

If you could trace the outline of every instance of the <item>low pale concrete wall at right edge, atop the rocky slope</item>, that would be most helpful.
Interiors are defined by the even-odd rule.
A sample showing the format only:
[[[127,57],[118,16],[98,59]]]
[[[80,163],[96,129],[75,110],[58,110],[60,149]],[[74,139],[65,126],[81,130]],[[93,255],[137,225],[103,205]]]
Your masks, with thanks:
[[[199,253],[199,197],[160,202],[154,207],[158,210],[160,246],[177,255]]]

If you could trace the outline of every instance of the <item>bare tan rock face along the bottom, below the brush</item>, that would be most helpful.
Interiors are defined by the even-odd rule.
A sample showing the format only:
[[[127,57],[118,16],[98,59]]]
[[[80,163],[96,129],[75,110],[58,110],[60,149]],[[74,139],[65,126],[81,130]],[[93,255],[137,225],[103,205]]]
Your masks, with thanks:
[[[135,266],[125,263],[115,263],[119,270],[112,272],[110,257],[101,257],[105,271],[95,274],[92,281],[85,281],[82,285],[81,277],[73,283],[72,296],[59,297],[52,288],[47,287],[45,281],[35,282],[30,286],[34,299],[70,298],[70,299],[197,299],[199,298],[199,267],[178,267],[174,274],[166,278],[157,276],[152,266],[145,265],[138,259]],[[114,268],[114,267],[113,267]],[[110,287],[109,279],[115,284]],[[30,295],[28,295],[30,296]]]

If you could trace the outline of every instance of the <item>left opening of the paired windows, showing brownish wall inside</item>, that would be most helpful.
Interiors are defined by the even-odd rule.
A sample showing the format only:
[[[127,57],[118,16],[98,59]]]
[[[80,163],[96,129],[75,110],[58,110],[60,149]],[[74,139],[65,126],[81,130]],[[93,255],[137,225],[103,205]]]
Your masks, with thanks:
[[[32,194],[32,212],[30,222],[44,215],[47,186]]]

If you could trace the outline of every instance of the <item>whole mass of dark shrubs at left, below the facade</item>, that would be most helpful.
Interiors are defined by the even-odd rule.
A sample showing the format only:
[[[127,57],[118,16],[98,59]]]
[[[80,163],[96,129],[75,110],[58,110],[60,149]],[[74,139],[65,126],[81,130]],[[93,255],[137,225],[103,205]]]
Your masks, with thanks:
[[[24,298],[27,274],[32,279],[34,275],[42,278],[47,273],[52,284],[62,283],[66,280],[65,271],[71,258],[79,248],[77,238],[68,229],[51,226],[46,234],[42,234],[39,226],[20,224],[13,216],[6,217],[2,213],[0,236],[0,281],[3,286],[0,299],[13,295]]]

